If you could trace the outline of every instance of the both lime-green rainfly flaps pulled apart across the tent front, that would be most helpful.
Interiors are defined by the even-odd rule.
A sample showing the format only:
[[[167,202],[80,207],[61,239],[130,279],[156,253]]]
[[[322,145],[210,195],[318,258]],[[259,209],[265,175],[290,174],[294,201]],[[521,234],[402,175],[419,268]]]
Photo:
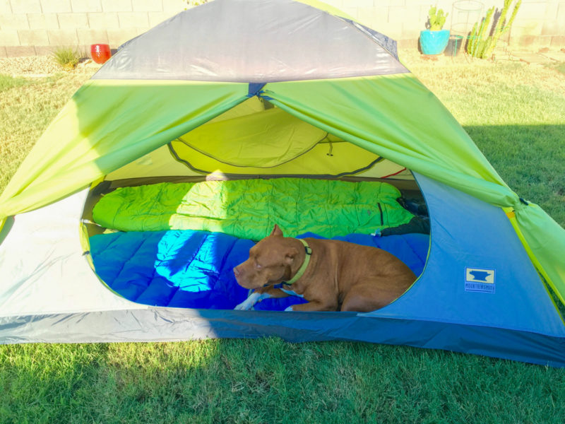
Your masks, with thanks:
[[[49,126],[0,197],[0,220],[87,186],[248,95],[244,83],[90,81]],[[416,78],[400,74],[268,83],[260,95],[317,129],[489,204],[512,208],[530,257],[565,302],[565,261],[560,257],[565,230],[538,206],[521,203]]]

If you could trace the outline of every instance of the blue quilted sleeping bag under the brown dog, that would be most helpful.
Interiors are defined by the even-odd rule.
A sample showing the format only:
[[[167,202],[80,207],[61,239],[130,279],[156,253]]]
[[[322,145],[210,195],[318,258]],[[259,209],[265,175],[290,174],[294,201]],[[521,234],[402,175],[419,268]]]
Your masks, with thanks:
[[[307,233],[299,237],[323,238]],[[429,236],[422,234],[335,237],[385,249],[416,275],[424,268]],[[233,309],[248,295],[233,274],[249,257],[251,240],[220,232],[168,230],[114,232],[90,237],[96,273],[119,295],[145,305],[195,309]],[[296,296],[266,299],[256,310],[285,310],[302,303]]]

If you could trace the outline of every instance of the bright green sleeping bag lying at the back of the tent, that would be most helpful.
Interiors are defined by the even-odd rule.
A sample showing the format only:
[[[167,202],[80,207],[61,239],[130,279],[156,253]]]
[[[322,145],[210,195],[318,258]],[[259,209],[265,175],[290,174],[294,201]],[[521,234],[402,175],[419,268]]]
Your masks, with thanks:
[[[278,224],[294,237],[371,234],[408,223],[400,192],[382,182],[239,179],[122,187],[98,201],[97,224],[122,231],[206,230],[261,240]]]

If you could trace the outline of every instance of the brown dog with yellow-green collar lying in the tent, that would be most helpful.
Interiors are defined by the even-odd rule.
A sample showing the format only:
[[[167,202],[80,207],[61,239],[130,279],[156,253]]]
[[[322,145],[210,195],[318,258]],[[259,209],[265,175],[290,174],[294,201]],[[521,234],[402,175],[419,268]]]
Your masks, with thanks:
[[[275,225],[268,237],[251,247],[249,259],[234,268],[234,275],[239,285],[254,293],[235,309],[249,310],[265,298],[295,294],[308,303],[287,310],[369,312],[388,305],[416,280],[400,259],[376,247],[304,241],[283,237]],[[273,287],[283,281],[292,284]]]

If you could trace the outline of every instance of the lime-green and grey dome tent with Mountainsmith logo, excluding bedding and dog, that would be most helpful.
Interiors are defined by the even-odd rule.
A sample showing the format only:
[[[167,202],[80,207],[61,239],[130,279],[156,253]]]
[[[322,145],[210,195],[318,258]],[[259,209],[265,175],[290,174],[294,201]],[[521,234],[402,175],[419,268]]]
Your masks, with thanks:
[[[342,326],[341,319],[376,323],[381,318],[396,324],[420,320],[433,323],[427,327],[431,335],[424,341],[416,342],[410,334],[390,341],[367,330],[364,336],[349,338],[565,364],[562,349],[558,353],[565,340],[564,324],[549,294],[565,302],[565,230],[504,183],[444,105],[400,63],[393,40],[328,6],[315,6],[321,8],[311,1],[215,0],[191,8],[127,42],[73,95],[0,196],[0,223],[4,225],[0,269],[8,276],[8,281],[0,283],[4,310],[0,314],[0,340],[120,340],[121,330],[137,325],[125,316],[115,319],[115,314],[124,310],[136,311],[136,322],[145,322],[145,329],[132,330],[133,339],[202,336],[194,329],[180,331],[180,336],[162,327],[157,330],[154,322],[149,324],[141,318],[141,314],[152,311],[147,305],[132,304],[108,292],[85,266],[83,251],[76,242],[78,235],[75,237],[71,228],[78,228],[79,221],[85,223],[85,216],[92,210],[87,201],[83,213],[84,190],[88,187],[95,189],[103,182],[115,181],[136,185],[167,178],[347,176],[382,180],[395,175],[397,181],[409,181],[414,187],[417,183],[429,206],[432,240],[426,270],[414,289],[390,307],[372,314],[331,318],[336,322],[316,316],[311,325],[335,329],[335,325]],[[441,196],[465,204],[461,215],[441,212],[440,208],[434,215],[432,204]],[[77,205],[81,210],[78,216]],[[69,208],[75,208],[75,213],[63,212]],[[466,212],[472,208],[477,208],[477,213]],[[492,299],[504,293],[499,282],[499,291],[487,301],[484,293],[480,294],[483,298],[471,301],[465,298],[470,295],[465,290],[453,294],[457,300],[449,301],[447,309],[451,312],[445,315],[438,312],[441,307],[407,312],[408,306],[401,301],[410,301],[411,293],[429,290],[424,284],[426,278],[439,281],[437,284],[445,285],[448,291],[458,284],[448,269],[457,276],[465,267],[480,268],[472,260],[481,257],[479,247],[464,240],[449,242],[448,235],[456,232],[450,232],[449,225],[455,228],[462,222],[470,226],[468,235],[484,232],[484,237],[490,237],[487,232],[500,228],[496,238],[504,240],[511,251],[496,259],[496,278],[502,281],[503,269],[515,268],[521,258],[519,269],[507,277],[517,278],[513,281],[516,287],[509,288],[502,303],[499,298]],[[498,226],[493,230],[495,222]],[[442,230],[447,231],[444,239]],[[52,242],[37,241],[43,234],[56,239],[60,236],[61,240],[68,234],[69,240],[59,240],[61,252],[54,254]],[[83,250],[88,252],[86,234],[83,232]],[[434,244],[444,246],[438,249],[445,252],[436,257]],[[435,269],[432,256],[443,264],[438,265],[435,276],[429,275]],[[25,264],[22,257],[34,259]],[[78,276],[85,281],[83,294],[69,295],[78,290],[74,284]],[[429,300],[438,295],[435,290],[420,296]],[[50,299],[47,306],[43,304],[45,293],[37,298],[43,291]],[[533,307],[536,302],[541,302],[542,310]],[[453,311],[456,305],[463,305],[463,312]],[[509,307],[513,309],[509,311]],[[494,309],[485,312],[488,308]],[[530,309],[534,312],[524,312]],[[58,314],[87,311],[93,313],[93,321],[86,319],[78,324],[80,320],[76,319],[76,329],[61,331],[54,324]],[[222,319],[232,317],[230,314],[242,319],[239,314],[246,312],[221,313]],[[173,322],[183,316],[179,310],[167,308],[160,314],[174,317]],[[40,315],[47,317],[43,324],[35,318],[24,319],[25,324],[20,326],[14,324],[21,317]],[[103,333],[92,336],[93,327],[98,325],[96,319],[109,322],[110,316],[121,324],[116,328],[108,324]],[[198,317],[208,323],[220,319],[213,312],[198,312]],[[253,313],[247,317],[249,326],[256,319],[270,319],[268,315],[257,318]],[[88,327],[83,326],[85,322]],[[434,334],[446,331],[436,328],[440,322],[451,325],[452,337],[461,334],[463,341],[434,339]],[[282,334],[294,339],[288,335],[288,328],[246,333],[238,330],[237,324],[233,326],[225,332],[217,329],[206,334]],[[366,326],[359,324],[359,328]],[[463,327],[486,330],[477,342],[473,336],[465,338]],[[51,329],[52,336],[45,336],[49,333],[46,328]],[[179,328],[182,324],[177,331]],[[501,342],[484,341],[501,337],[496,331],[503,330],[527,337],[535,334],[535,341],[518,337],[513,339],[510,351],[504,351]],[[311,338],[304,331],[307,329],[297,330],[301,334],[297,340]],[[517,336],[512,333],[512,337]],[[329,331],[326,338],[346,337]],[[474,350],[469,347],[473,342],[486,343],[487,347]],[[528,343],[534,347],[524,347]],[[551,346],[540,348],[543,343]]]

